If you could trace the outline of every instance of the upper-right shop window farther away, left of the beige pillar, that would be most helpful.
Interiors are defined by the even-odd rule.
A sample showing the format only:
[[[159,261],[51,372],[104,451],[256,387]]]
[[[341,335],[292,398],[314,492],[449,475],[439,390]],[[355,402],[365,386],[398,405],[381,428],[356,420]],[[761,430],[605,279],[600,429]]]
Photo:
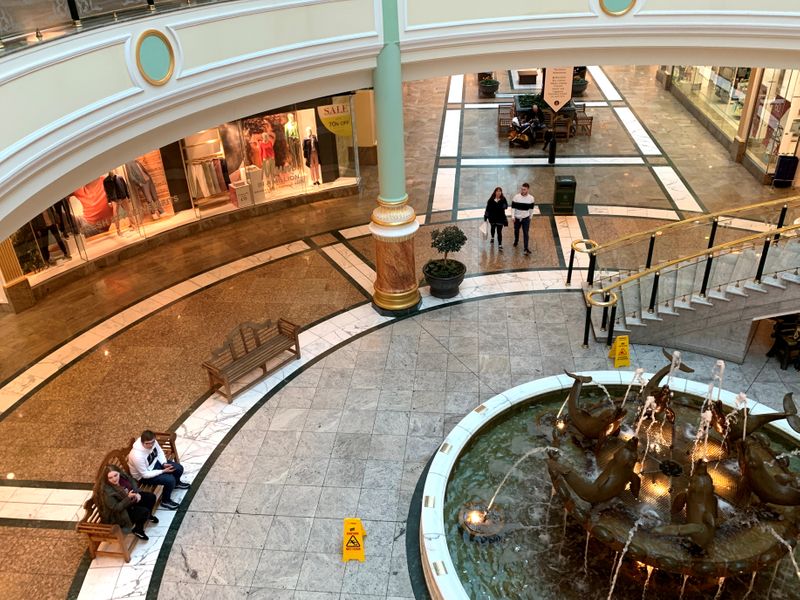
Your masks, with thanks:
[[[733,140],[750,73],[749,67],[677,66],[672,84]]]

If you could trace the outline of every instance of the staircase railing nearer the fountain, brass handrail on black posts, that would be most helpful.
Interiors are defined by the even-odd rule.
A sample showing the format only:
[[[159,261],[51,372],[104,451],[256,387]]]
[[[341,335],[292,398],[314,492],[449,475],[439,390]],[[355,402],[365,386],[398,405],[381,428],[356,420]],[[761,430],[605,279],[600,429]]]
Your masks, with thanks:
[[[793,273],[792,273],[793,271]],[[592,307],[603,309],[600,329],[611,345],[615,326],[642,324],[658,313],[675,314],[691,302],[744,295],[742,288],[781,285],[779,275],[800,282],[800,223],[771,229],[689,253],[639,272],[589,283],[583,344],[589,343]],[[620,308],[621,307],[621,308]],[[610,315],[609,315],[610,309]]]

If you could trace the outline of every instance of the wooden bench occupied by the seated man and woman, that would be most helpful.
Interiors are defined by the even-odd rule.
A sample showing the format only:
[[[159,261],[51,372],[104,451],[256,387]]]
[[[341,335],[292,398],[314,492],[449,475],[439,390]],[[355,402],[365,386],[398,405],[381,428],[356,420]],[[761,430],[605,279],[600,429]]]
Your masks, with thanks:
[[[178,460],[178,451],[175,448],[175,438],[176,435],[174,432],[156,433],[156,440],[158,440],[158,444],[164,450],[167,460],[180,462]],[[100,463],[100,469],[95,477],[92,497],[83,504],[85,513],[83,518],[78,521],[75,530],[87,537],[89,541],[89,555],[93,559],[101,555],[122,556],[125,562],[130,562],[131,551],[136,546],[136,542],[139,541],[139,538],[131,533],[126,533],[119,525],[104,523],[96,501],[97,494],[103,493],[107,465],[119,467],[126,473],[129,473],[128,453],[130,452],[131,446],[133,446],[133,442],[134,440],[131,440],[127,448],[118,448],[106,454],[103,458],[103,462]],[[140,485],[139,487],[143,492],[155,494],[156,503],[153,506],[153,510],[155,510],[161,502],[162,487],[160,485],[148,484]],[[100,550],[100,544],[103,543],[107,544],[109,548]]]

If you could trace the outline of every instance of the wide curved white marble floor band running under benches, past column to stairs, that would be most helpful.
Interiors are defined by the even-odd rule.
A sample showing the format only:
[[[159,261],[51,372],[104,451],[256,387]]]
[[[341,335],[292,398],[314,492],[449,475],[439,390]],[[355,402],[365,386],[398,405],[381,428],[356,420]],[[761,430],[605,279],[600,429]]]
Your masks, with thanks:
[[[447,300],[434,298],[427,287],[421,288],[422,305],[420,311],[415,314],[465,301],[517,293],[580,292],[580,289],[575,287],[567,287],[565,280],[566,271],[563,269],[477,275],[465,279],[459,294]],[[302,359],[290,363],[236,396],[232,403],[228,404],[219,394],[212,394],[177,428],[177,446],[181,449],[181,462],[185,468],[184,478],[188,481],[197,478],[198,482],[202,482],[214,458],[224,449],[230,437],[274,393],[303,370],[344,344],[398,320],[377,314],[368,303],[361,304],[303,331],[300,334]],[[241,385],[246,383],[242,382]],[[190,490],[190,500],[198,487],[199,485],[194,486]],[[176,490],[173,493],[178,500],[182,500],[184,495],[182,491]],[[86,572],[78,599],[114,598],[123,591],[133,596],[147,594],[155,597],[157,587],[151,590],[151,581],[157,565],[161,565],[160,568],[163,569],[169,549],[172,547],[176,533],[176,529],[172,527],[173,520],[176,521],[177,527],[189,506],[189,504],[182,506],[177,514],[159,510],[162,522],[158,525],[158,533],[161,535],[154,533],[148,543],[137,544],[130,563],[105,557],[95,559]],[[165,528],[168,531],[165,532]],[[169,541],[165,544],[167,540]],[[147,557],[156,554],[158,560],[148,560]],[[159,585],[160,574],[156,578],[156,586]]]

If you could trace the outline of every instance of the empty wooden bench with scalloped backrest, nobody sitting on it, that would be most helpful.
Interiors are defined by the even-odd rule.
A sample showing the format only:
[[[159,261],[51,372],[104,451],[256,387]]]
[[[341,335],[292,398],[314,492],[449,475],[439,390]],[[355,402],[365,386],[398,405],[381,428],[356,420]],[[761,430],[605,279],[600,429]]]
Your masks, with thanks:
[[[211,358],[203,362],[208,371],[211,391],[219,390],[220,394],[230,402],[233,399],[231,383],[250,373],[255,368],[266,376],[279,369],[290,360],[300,358],[300,327],[285,319],[278,319],[273,325],[266,323],[243,323],[228,334],[225,344],[214,350]],[[288,353],[278,364],[269,365],[270,361]],[[238,392],[254,385],[258,379],[250,382]]]

